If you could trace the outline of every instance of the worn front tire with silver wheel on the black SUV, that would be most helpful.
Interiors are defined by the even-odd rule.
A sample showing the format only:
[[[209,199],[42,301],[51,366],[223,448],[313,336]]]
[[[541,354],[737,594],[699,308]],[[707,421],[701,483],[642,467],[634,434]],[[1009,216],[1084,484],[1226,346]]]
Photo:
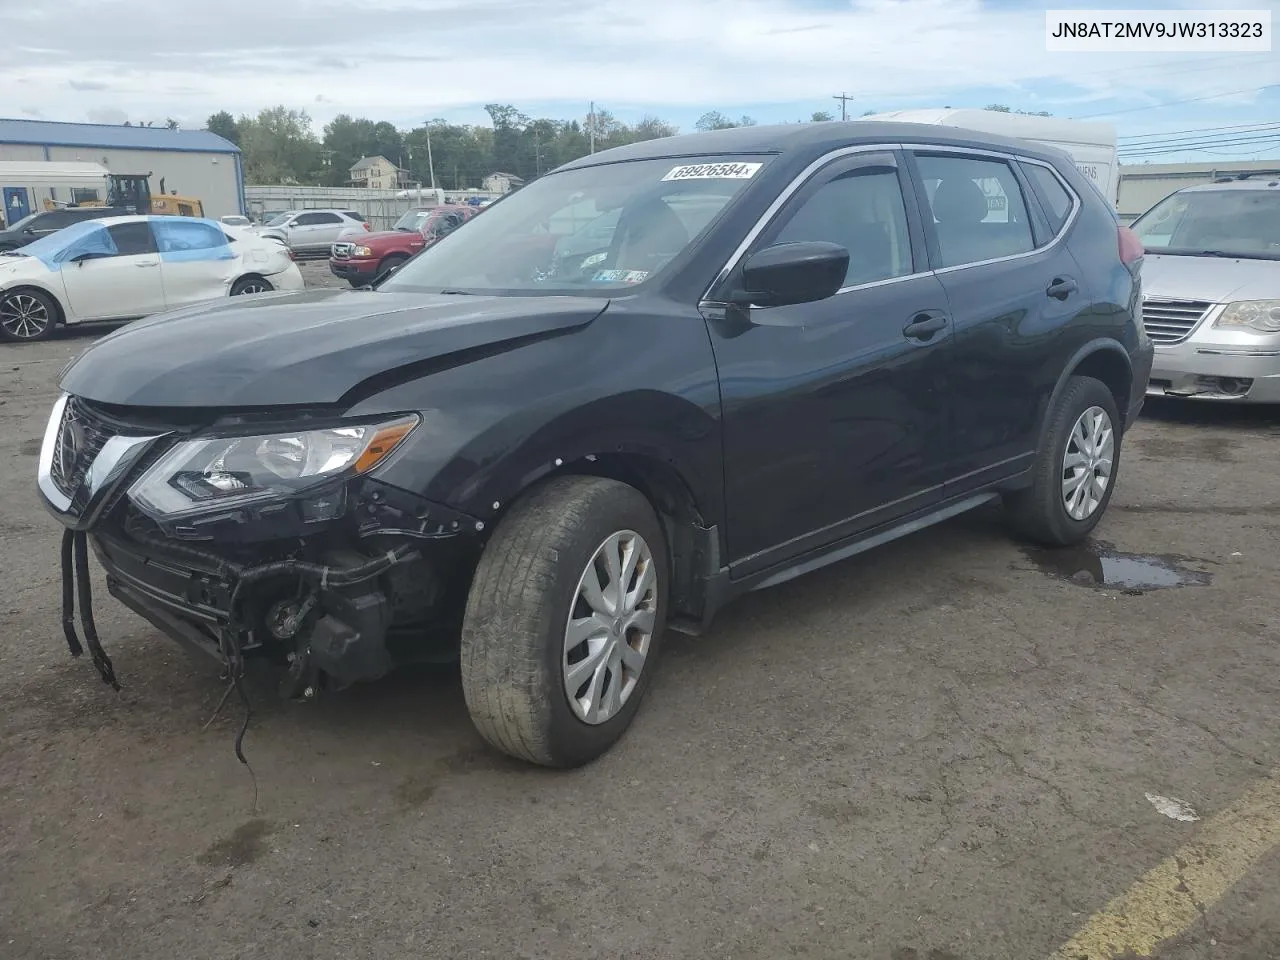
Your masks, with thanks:
[[[589,564],[602,570],[596,557],[617,547],[617,538],[639,557],[631,579],[631,593],[643,600],[639,631],[626,623],[620,628],[618,618],[611,626],[604,626],[607,617],[589,618],[591,609],[580,596]],[[649,502],[626,484],[558,477],[517,502],[480,557],[462,625],[462,692],[480,735],[503,753],[544,767],[579,767],[608,750],[630,726],[653,677],[668,568],[662,525]],[[652,586],[643,586],[649,576]],[[604,577],[596,581],[604,585]],[[605,604],[611,586],[602,591]],[[567,650],[573,614],[579,635],[590,631],[590,639]],[[630,672],[623,657],[639,664],[639,673]],[[588,662],[599,666],[593,669]],[[581,676],[571,681],[573,667]],[[567,687],[582,677],[571,701]],[[611,699],[613,692],[621,694],[621,704]],[[603,718],[591,713],[593,704],[604,705]]]

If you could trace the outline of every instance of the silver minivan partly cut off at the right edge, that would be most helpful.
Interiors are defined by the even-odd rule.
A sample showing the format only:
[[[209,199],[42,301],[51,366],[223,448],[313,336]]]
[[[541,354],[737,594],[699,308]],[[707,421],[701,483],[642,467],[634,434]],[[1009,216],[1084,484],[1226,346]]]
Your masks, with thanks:
[[[1132,229],[1156,346],[1147,394],[1280,403],[1280,179],[1187,187]]]

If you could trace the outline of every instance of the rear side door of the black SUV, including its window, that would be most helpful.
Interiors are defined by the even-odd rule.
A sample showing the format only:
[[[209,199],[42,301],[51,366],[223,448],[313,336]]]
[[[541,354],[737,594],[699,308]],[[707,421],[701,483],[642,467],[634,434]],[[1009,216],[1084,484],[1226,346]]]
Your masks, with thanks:
[[[1061,372],[1064,328],[1089,306],[1065,243],[1079,201],[1068,192],[1053,227],[1015,157],[952,147],[911,154],[955,324],[951,497],[1032,463]],[[1065,189],[1051,168],[1036,165]]]

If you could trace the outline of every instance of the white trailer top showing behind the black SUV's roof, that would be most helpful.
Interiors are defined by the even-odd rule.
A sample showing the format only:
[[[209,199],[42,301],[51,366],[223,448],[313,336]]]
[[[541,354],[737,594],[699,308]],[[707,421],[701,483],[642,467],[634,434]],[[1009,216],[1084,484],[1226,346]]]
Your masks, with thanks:
[[[1066,151],[1076,169],[1093,180],[1102,196],[1115,206],[1120,197],[1120,164],[1116,159],[1116,128],[1110,123],[1064,120],[1057,116],[1029,116],[998,110],[959,110],[950,106],[929,110],[893,110],[869,114],[863,120],[937,123],[963,127],[979,133],[995,133]]]

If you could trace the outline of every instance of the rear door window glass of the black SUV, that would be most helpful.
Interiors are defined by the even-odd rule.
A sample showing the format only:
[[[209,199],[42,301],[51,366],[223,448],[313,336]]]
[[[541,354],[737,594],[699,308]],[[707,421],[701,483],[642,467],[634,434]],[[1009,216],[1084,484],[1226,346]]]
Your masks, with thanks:
[[[919,165],[942,266],[995,260],[1036,248],[1027,202],[1012,169],[1004,160],[920,156]]]

